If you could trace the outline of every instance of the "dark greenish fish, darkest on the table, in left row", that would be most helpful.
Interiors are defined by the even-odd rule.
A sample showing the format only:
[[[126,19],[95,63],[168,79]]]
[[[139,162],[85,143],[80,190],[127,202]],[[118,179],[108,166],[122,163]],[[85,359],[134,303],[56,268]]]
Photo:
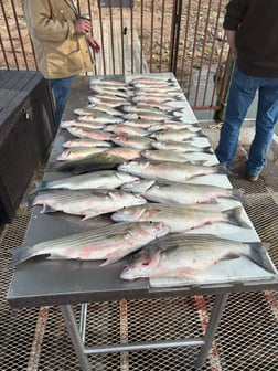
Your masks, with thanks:
[[[116,169],[117,166],[124,162],[122,157],[110,153],[109,151],[99,151],[99,153],[90,153],[81,159],[68,160],[62,165],[54,167],[56,171],[71,171],[73,174],[84,172]]]

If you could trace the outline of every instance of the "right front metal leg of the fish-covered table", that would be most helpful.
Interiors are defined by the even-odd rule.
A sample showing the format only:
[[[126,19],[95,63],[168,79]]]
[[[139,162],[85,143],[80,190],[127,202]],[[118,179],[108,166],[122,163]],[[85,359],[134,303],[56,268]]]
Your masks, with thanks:
[[[205,363],[206,356],[211,349],[227,298],[228,294],[216,295],[212,312],[210,316],[209,325],[204,335],[204,344],[202,346],[197,354],[196,369],[201,369]]]

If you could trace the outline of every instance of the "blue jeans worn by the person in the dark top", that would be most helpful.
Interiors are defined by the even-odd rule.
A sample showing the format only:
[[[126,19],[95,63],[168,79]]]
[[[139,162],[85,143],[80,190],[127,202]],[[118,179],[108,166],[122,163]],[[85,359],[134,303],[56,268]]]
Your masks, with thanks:
[[[271,145],[275,124],[278,120],[278,78],[247,76],[235,64],[225,123],[215,150],[220,162],[226,162],[229,169],[236,155],[243,120],[257,91],[256,132],[247,161],[247,171],[250,176],[259,173],[267,162],[266,153]]]

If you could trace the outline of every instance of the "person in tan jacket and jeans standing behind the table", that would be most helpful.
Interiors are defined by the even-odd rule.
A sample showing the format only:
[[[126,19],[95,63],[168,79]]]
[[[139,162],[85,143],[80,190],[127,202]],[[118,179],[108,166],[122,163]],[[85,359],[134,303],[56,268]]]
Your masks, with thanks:
[[[83,19],[72,0],[23,0],[23,10],[40,71],[52,87],[55,124],[60,125],[73,78],[92,71],[92,23]]]

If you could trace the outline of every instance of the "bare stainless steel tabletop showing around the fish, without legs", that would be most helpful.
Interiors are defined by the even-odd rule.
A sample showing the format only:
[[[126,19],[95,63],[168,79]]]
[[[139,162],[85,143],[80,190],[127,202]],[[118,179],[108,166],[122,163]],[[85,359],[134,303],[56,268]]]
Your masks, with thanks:
[[[160,76],[174,78],[170,73],[160,74]],[[89,78],[76,77],[64,119],[73,119],[75,117],[73,110],[77,106],[86,106],[87,96],[89,95]],[[128,78],[131,78],[131,76],[128,76]],[[117,76],[115,80],[125,81],[125,77]],[[184,106],[186,107],[186,100],[184,100]],[[189,106],[185,115],[189,121],[195,120]],[[57,134],[50,156],[50,163],[55,161],[57,153],[62,150],[62,144],[65,140],[64,131],[61,129]],[[57,174],[58,177],[64,177],[64,174]],[[46,173],[46,176],[49,178],[54,177],[52,172]],[[107,218],[81,222],[78,218],[73,215],[64,215],[63,213],[41,214],[40,210],[40,206],[36,206],[31,216],[25,235],[25,245],[86,231],[110,222]],[[255,231],[254,239],[257,239]],[[215,282],[213,284],[205,284],[205,282],[201,282],[174,288],[150,288],[148,279],[136,279],[133,282],[120,279],[119,275],[125,264],[126,259],[121,259],[113,265],[99,267],[98,262],[47,261],[38,257],[20,264],[15,268],[7,298],[12,307],[21,308],[40,305],[64,305],[65,303],[77,304],[122,298],[147,298],[157,295],[172,296],[181,295],[182,293],[189,295],[228,293],[250,290],[258,286],[260,289],[271,289],[278,285],[277,275],[260,279],[255,274],[254,277],[245,280],[235,277],[234,280],[231,279],[228,283]],[[35,280],[32,279],[34,276],[36,277]],[[32,285],[30,285],[30,282],[32,282]]]

